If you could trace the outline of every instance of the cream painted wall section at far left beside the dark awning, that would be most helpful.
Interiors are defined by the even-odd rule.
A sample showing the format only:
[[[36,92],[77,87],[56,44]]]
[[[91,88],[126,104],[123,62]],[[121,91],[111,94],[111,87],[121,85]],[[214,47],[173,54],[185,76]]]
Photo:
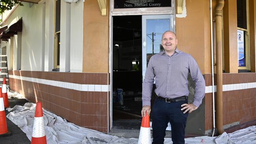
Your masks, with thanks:
[[[13,38],[13,70],[42,70],[41,49],[42,49],[42,4],[34,4],[29,7],[29,3],[24,2],[24,6],[18,6],[6,20],[4,25],[8,27],[22,18],[21,35],[21,65],[20,45],[17,43],[17,35]],[[19,35],[19,36],[20,36]],[[19,48],[17,47],[19,46]],[[17,49],[18,48],[18,49]],[[18,65],[17,65],[18,63]]]

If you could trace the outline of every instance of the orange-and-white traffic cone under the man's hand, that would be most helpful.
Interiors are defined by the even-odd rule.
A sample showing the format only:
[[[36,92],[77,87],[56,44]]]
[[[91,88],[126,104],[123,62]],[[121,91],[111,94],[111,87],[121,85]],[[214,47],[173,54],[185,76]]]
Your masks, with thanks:
[[[150,134],[150,119],[149,115],[143,116],[141,122],[141,130],[139,131],[138,144],[151,144],[151,134]]]

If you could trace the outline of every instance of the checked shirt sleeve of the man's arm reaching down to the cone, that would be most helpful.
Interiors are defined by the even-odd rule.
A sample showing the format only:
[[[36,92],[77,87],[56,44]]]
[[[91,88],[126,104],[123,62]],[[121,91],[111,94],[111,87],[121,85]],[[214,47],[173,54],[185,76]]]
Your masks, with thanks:
[[[154,56],[153,56],[154,57]],[[142,106],[149,105],[152,94],[152,87],[155,81],[155,74],[153,68],[153,57],[150,58],[148,62],[148,67],[145,73],[145,78],[142,83]]]

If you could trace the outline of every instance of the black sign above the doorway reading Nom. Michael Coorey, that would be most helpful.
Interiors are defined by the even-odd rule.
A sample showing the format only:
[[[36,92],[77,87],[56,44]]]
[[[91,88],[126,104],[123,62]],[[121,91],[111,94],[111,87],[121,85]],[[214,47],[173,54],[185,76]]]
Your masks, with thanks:
[[[171,0],[114,0],[114,8],[171,7]]]

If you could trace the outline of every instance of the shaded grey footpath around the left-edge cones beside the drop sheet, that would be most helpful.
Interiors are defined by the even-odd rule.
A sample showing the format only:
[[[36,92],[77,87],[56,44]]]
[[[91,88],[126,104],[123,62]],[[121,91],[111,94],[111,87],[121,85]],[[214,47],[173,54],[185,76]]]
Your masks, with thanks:
[[[28,102],[24,98],[9,98],[9,107],[14,107],[15,105],[24,105]],[[6,111],[6,115],[9,112]],[[30,144],[30,140],[23,131],[13,124],[8,118],[6,118],[7,127],[11,131],[11,136],[0,137],[0,144]]]

